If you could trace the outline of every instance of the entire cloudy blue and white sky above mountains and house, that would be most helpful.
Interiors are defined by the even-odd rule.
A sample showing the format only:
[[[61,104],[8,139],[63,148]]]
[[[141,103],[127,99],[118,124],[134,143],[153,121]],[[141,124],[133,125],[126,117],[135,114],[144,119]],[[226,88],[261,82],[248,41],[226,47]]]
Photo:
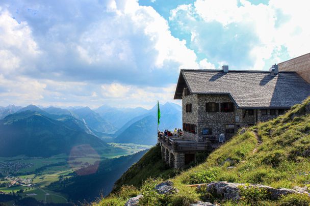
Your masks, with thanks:
[[[0,0],[0,106],[179,103],[181,68],[309,53],[309,19],[307,0]]]

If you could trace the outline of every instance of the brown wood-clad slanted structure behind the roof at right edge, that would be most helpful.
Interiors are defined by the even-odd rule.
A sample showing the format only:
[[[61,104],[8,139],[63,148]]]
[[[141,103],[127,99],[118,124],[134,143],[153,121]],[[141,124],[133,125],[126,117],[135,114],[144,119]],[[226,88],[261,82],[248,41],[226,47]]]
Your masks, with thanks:
[[[294,71],[310,83],[310,53],[278,64],[279,71]]]

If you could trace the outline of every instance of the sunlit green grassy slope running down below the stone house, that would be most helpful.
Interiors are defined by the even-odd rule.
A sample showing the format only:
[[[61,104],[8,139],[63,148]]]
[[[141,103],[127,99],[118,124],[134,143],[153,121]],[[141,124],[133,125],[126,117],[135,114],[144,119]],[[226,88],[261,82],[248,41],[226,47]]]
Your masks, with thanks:
[[[310,173],[310,114],[305,113],[307,104],[310,104],[310,99],[303,104],[295,105],[277,119],[248,128],[242,134],[239,132],[229,142],[214,151],[204,163],[175,176],[171,181],[179,190],[177,194],[168,198],[162,197],[153,191],[153,186],[160,180],[148,180],[139,190],[124,187],[102,199],[98,205],[121,205],[126,198],[136,194],[144,194],[144,198],[140,201],[141,205],[188,205],[199,199],[221,201],[210,196],[206,198],[205,192],[199,193],[195,188],[186,186],[212,181],[259,183],[275,188],[294,186],[310,188],[310,175],[308,175]],[[135,173],[139,172],[143,173],[144,170],[137,168]],[[272,202],[264,200],[264,195],[262,199],[257,199],[256,197],[260,196],[259,193],[254,196],[245,193],[238,205],[292,205],[292,201],[296,203],[297,200],[304,200],[304,204],[299,202],[296,205],[310,203],[308,197],[290,196]],[[222,205],[237,204],[232,201],[221,203]]]

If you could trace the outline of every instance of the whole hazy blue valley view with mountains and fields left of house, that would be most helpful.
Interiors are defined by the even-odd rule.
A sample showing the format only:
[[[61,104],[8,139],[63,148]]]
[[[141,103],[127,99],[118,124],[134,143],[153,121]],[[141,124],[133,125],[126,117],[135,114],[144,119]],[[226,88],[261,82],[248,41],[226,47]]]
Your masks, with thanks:
[[[160,107],[163,129],[174,129],[175,122],[182,125],[179,105]],[[23,197],[43,202],[93,201],[102,191],[107,195],[157,142],[157,105],[9,105],[0,107],[0,116],[0,191],[23,191]]]

